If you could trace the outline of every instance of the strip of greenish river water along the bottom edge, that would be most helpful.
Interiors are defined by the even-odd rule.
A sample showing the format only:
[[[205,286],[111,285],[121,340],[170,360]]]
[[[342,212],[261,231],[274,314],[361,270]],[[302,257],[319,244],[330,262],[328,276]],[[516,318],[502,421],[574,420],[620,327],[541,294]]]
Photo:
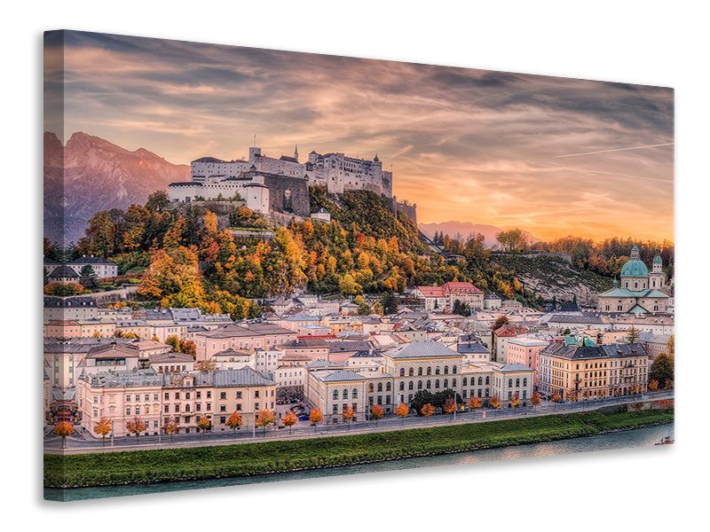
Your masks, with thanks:
[[[163,493],[183,489],[218,488],[222,486],[240,486],[256,482],[292,481],[297,479],[312,479],[351,473],[374,473],[377,471],[392,471],[411,469],[413,467],[430,467],[434,465],[471,464],[490,460],[507,460],[511,458],[546,457],[549,455],[592,450],[611,450],[627,447],[645,447],[660,442],[666,436],[673,437],[673,423],[660,426],[647,426],[618,433],[585,436],[558,440],[556,442],[531,443],[499,449],[475,450],[457,454],[440,455],[436,457],[408,458],[375,464],[346,465],[331,469],[315,469],[295,473],[263,474],[252,477],[231,479],[215,479],[208,481],[164,482],[161,484],[132,484],[129,486],[107,486],[97,488],[74,488],[64,490],[64,500],[78,501],[91,498],[123,497],[128,495],[145,495]],[[60,497],[59,489],[44,489],[44,497],[56,499]]]

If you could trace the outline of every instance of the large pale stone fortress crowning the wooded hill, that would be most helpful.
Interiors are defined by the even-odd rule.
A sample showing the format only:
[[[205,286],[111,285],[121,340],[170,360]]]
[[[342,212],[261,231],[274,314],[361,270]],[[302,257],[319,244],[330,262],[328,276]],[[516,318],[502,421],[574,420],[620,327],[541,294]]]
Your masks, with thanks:
[[[367,160],[313,151],[307,161],[300,162],[298,146],[293,157],[282,155],[279,159],[251,147],[248,160],[201,157],[190,166],[191,181],[168,185],[170,201],[227,200],[239,194],[248,208],[262,215],[311,217],[308,187],[320,185],[331,194],[375,192],[388,201],[393,212],[403,210],[416,223],[416,206],[392,197],[392,173],[383,170],[376,154]],[[322,213],[313,217],[323,219]]]

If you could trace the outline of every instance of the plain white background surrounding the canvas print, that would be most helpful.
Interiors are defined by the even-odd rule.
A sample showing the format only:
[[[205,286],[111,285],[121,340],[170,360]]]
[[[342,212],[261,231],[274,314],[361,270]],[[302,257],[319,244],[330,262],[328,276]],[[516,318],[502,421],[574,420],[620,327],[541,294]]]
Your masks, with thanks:
[[[499,2],[495,7],[444,1],[34,4],[19,7],[15,2],[3,8],[2,146],[7,195],[0,209],[5,255],[0,307],[5,376],[0,478],[8,529],[598,532],[704,526],[700,515],[707,496],[703,405],[707,290],[698,286],[698,275],[707,276],[708,267],[710,47],[707,18],[698,7],[649,1]],[[42,32],[59,28],[674,87],[676,383],[680,388],[676,444],[670,449],[607,451],[65,505],[43,502],[37,430],[42,371]]]

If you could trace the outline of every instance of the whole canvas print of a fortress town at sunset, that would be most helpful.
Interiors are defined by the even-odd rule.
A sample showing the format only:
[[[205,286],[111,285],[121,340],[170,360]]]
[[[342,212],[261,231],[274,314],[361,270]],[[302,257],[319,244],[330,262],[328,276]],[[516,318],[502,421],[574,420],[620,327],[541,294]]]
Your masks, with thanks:
[[[47,499],[672,449],[672,89],[49,31],[43,168]]]

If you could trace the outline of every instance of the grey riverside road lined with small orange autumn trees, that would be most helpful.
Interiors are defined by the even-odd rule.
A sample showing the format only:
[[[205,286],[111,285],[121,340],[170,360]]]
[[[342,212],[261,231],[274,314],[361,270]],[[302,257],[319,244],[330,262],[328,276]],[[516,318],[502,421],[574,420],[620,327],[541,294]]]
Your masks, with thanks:
[[[364,434],[372,432],[386,432],[401,428],[418,428],[428,426],[446,426],[452,424],[491,421],[493,419],[517,419],[531,416],[544,416],[549,414],[583,412],[596,410],[604,406],[616,404],[635,403],[636,401],[651,401],[656,399],[673,400],[673,390],[624,397],[611,397],[596,400],[581,400],[575,403],[552,403],[543,401],[537,407],[524,407],[514,409],[494,410],[477,409],[474,411],[457,411],[455,416],[449,414],[433,415],[430,418],[419,417],[410,413],[405,419],[390,415],[379,421],[358,421],[356,423],[337,423],[313,427],[309,421],[298,421],[289,430],[286,427],[272,426],[265,431],[263,428],[243,426],[240,430],[226,429],[224,432],[208,432],[207,434],[175,434],[171,439],[169,435],[140,436],[138,444],[135,436],[122,438],[106,437],[106,442],[96,439],[94,434],[84,431],[79,437],[67,438],[67,448],[61,449],[61,438],[49,436],[44,441],[44,450],[50,454],[78,454],[85,452],[102,452],[118,450],[147,450],[170,449],[179,447],[201,447],[205,445],[227,445],[230,443],[264,442],[275,440],[296,440],[312,437],[322,437],[343,434]],[[287,407],[288,408],[288,407]],[[485,419],[484,419],[485,411]],[[455,419],[454,419],[455,417]]]

